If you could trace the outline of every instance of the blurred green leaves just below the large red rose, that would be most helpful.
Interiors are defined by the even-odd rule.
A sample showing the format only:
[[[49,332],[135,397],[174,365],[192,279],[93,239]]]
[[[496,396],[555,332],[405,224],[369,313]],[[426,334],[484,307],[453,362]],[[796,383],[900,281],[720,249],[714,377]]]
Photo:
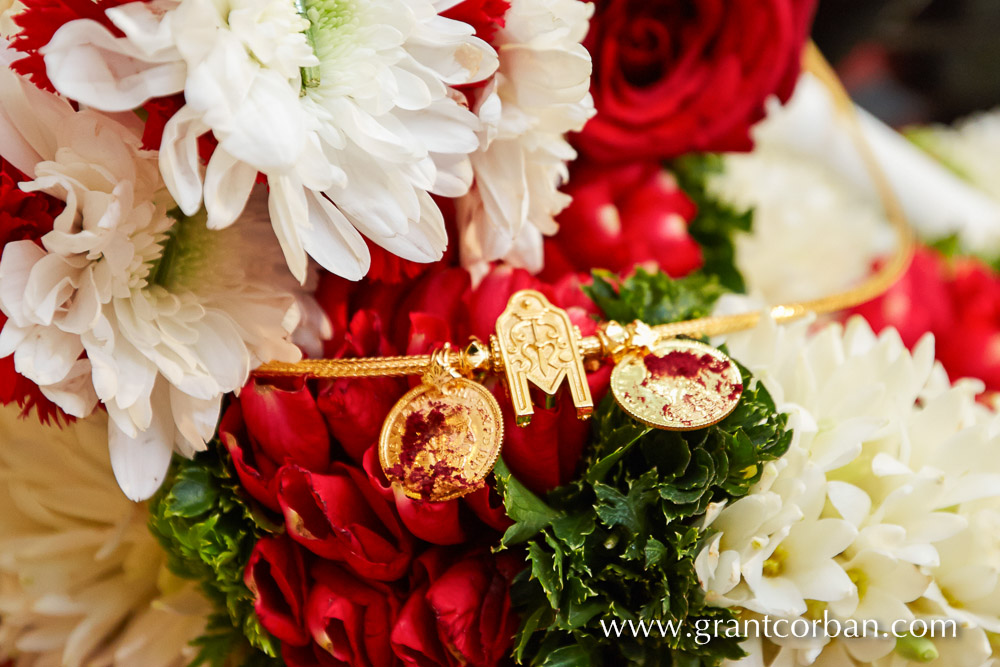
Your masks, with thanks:
[[[733,238],[749,232],[753,211],[738,211],[708,191],[707,181],[722,170],[722,157],[711,153],[691,154],[670,165],[681,189],[698,206],[698,215],[688,225],[688,233],[701,246],[705,258],[702,272],[716,276],[719,283],[733,292],[745,292],[743,276],[736,268]]]

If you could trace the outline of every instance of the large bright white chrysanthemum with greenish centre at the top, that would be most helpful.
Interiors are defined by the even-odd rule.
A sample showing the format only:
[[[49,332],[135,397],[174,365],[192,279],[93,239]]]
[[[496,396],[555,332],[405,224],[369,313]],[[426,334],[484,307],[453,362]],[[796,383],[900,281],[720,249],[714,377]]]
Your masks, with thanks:
[[[109,9],[124,33],[62,26],[45,47],[66,96],[109,111],[183,92],[160,168],[187,215],[234,222],[258,172],[288,266],[306,254],[361,278],[362,234],[401,257],[439,259],[431,193],[465,194],[479,121],[451,86],[484,79],[496,53],[438,15],[455,0],[158,0]],[[301,6],[301,13],[296,7]],[[218,140],[202,174],[197,139]]]

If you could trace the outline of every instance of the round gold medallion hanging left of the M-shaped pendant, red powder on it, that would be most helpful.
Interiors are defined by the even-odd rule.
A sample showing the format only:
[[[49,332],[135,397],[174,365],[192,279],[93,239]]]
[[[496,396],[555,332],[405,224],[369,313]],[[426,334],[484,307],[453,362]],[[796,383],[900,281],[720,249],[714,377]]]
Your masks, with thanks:
[[[500,406],[482,385],[461,377],[425,379],[389,412],[379,460],[410,498],[450,500],[483,486],[502,442]]]

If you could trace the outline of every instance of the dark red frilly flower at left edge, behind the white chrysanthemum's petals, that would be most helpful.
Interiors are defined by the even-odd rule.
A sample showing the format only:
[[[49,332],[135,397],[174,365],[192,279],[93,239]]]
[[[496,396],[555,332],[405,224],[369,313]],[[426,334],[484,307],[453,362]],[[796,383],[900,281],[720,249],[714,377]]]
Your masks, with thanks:
[[[18,184],[27,180],[13,165],[0,158],[0,248],[14,241],[38,241],[52,231],[52,221],[65,208],[63,202],[44,193],[22,192]],[[6,324],[6,314],[0,313],[0,329]],[[36,408],[43,423],[72,419],[45,398],[38,385],[14,370],[11,355],[0,359],[0,404],[15,401],[25,414]]]

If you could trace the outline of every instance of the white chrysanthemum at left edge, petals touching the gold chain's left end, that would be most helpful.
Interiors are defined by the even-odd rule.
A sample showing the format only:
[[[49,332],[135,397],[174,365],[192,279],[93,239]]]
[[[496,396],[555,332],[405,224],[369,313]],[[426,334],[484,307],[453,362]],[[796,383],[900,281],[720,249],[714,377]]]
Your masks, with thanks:
[[[119,483],[148,498],[174,446],[191,455],[212,438],[223,394],[265,361],[300,358],[300,309],[282,288],[295,283],[261,200],[238,229],[174,217],[134,134],[4,71],[5,129],[36,152],[15,163],[35,176],[22,188],[66,208],[41,245],[4,248],[0,355],[71,415],[100,400]]]

